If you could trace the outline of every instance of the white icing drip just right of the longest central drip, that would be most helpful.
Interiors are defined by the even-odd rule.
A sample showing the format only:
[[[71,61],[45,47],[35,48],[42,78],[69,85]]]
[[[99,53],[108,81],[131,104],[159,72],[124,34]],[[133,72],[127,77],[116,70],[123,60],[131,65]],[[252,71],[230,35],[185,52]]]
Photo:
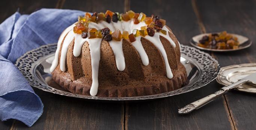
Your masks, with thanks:
[[[124,71],[125,69],[125,59],[124,59],[124,53],[122,48],[122,40],[116,41],[116,40],[110,40],[109,45],[115,55],[116,59],[116,67],[119,71]]]

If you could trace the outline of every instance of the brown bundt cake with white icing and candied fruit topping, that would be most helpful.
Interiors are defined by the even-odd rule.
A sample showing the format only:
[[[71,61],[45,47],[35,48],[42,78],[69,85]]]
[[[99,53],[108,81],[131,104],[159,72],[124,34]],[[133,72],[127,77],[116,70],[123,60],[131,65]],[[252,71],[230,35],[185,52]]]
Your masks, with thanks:
[[[79,16],[61,34],[50,71],[64,89],[98,97],[159,94],[187,79],[165,20],[131,10]]]

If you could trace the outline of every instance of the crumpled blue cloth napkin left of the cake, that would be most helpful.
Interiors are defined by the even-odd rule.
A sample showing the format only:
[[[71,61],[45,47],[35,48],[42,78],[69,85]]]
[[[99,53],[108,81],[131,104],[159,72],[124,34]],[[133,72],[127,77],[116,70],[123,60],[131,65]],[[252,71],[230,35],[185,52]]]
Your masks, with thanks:
[[[61,32],[84,15],[78,10],[41,9],[18,12],[0,24],[0,119],[13,118],[32,126],[43,113],[43,103],[13,65],[31,49],[57,43]]]

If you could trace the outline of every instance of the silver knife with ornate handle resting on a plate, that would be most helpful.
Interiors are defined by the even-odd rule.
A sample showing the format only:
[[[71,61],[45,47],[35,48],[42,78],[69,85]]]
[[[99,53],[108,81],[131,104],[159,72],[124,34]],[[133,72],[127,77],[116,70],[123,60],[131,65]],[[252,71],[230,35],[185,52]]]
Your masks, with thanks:
[[[232,90],[233,88],[237,88],[243,84],[246,83],[252,83],[256,84],[256,73],[253,73],[247,77],[242,78],[241,80],[235,82],[234,84],[231,84],[229,86],[225,86],[220,88],[220,90],[214,92],[214,94],[208,95],[204,98],[201,98],[191,104],[186,105],[185,107],[182,107],[179,109],[178,113],[179,114],[188,114],[191,113],[193,110],[197,110],[200,107],[204,106],[207,103],[210,103],[214,99],[220,97],[221,95],[225,94],[229,90]]]

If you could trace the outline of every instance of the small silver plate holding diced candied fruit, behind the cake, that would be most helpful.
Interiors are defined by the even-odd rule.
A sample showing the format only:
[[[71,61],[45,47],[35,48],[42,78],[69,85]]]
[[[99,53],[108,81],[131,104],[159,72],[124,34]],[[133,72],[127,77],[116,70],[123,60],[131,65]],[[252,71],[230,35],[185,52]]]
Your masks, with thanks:
[[[201,49],[201,50],[205,50],[205,51],[213,51],[213,52],[230,52],[230,51],[237,51],[237,50],[241,50],[241,49],[245,49],[248,48],[249,46],[252,45],[252,41],[249,40],[249,38],[242,36],[242,35],[238,35],[238,34],[233,34],[233,33],[229,33],[232,36],[236,36],[238,39],[238,42],[240,43],[240,45],[238,46],[237,49],[223,49],[223,50],[219,50],[219,49],[209,49],[209,48],[202,48],[200,46],[198,46],[197,44],[199,43],[199,40],[202,39],[203,36],[205,35],[209,35],[210,33],[203,33],[203,34],[199,34],[196,36],[193,36],[190,40],[190,44],[192,46],[194,46],[195,48]]]

